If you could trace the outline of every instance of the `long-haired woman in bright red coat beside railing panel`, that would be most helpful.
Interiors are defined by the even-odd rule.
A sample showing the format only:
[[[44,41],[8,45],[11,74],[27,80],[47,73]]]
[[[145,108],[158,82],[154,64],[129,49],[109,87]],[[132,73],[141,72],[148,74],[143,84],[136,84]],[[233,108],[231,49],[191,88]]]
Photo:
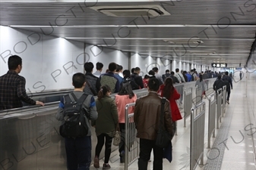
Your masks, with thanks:
[[[167,77],[163,85],[160,85],[159,93],[161,97],[166,97],[166,99],[169,100],[172,111],[173,134],[175,134],[176,121],[182,119],[182,115],[175,100],[178,100],[179,97],[181,97],[181,94],[179,94],[175,87],[173,87],[172,78],[170,77]]]

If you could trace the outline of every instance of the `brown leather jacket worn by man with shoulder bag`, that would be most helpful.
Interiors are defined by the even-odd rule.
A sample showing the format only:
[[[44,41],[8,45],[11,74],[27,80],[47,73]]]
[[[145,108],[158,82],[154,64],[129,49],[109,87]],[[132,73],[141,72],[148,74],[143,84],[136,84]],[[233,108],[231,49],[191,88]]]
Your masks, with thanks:
[[[156,140],[161,114],[161,97],[156,92],[136,100],[134,107],[134,123],[137,128],[137,138]],[[172,117],[169,100],[164,107],[165,128],[172,135]],[[173,135],[172,135],[173,136]]]

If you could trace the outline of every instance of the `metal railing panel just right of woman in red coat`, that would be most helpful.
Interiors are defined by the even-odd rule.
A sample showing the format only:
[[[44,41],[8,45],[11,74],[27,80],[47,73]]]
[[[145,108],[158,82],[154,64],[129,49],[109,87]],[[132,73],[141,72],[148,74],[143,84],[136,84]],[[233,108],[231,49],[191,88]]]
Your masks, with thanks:
[[[190,116],[192,107],[192,90],[193,88],[184,89],[184,127],[186,127],[186,119]]]

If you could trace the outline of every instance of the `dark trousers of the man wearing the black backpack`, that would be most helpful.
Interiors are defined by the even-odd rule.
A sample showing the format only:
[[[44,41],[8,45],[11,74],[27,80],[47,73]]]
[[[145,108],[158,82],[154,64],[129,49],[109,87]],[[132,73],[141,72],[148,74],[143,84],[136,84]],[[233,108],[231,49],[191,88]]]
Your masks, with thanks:
[[[68,170],[90,170],[91,139],[90,136],[81,138],[65,138]]]

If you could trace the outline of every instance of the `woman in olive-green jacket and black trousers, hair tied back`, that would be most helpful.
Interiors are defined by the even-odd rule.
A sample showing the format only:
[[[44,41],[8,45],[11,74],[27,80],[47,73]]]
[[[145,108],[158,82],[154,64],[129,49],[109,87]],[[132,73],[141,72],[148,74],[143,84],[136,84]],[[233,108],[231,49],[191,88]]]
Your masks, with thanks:
[[[111,153],[112,138],[115,136],[116,126],[119,122],[119,115],[115,104],[115,99],[110,97],[111,89],[109,85],[103,85],[96,99],[96,109],[98,119],[92,121],[95,127],[97,144],[95,149],[94,167],[100,168],[99,157],[105,141],[105,159],[103,169],[110,168],[109,157]]]

